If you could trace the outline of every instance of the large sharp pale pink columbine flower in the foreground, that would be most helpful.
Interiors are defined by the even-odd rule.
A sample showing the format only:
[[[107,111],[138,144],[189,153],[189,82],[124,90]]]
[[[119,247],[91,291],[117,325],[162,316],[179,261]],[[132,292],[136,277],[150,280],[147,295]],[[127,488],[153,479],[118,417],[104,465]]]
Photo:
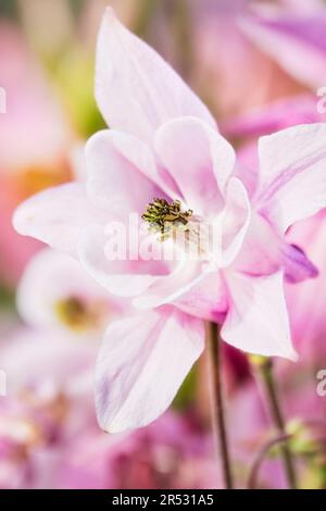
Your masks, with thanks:
[[[111,129],[87,145],[87,184],[29,199],[14,225],[70,252],[110,292],[142,309],[110,325],[97,363],[99,421],[120,432],[148,424],[170,406],[203,351],[202,320],[223,322],[223,339],[239,349],[297,358],[284,279],[317,272],[284,234],[326,204],[326,124],[262,137],[259,179],[249,195],[206,108],[110,9],[99,36],[96,94]],[[168,222],[176,208],[190,233],[192,222],[213,225],[216,252],[110,260],[108,222],[127,223],[130,212],[152,215],[154,198],[165,201]],[[162,245],[156,235],[152,242]]]

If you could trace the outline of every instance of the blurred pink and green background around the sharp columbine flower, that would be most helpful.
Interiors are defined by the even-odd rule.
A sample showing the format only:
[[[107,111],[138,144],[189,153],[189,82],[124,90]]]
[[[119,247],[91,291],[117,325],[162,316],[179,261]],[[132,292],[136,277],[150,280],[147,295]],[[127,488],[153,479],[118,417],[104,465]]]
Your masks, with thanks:
[[[260,135],[326,121],[322,0],[0,0],[0,488],[221,485],[205,357],[155,423],[101,432],[92,366],[104,325],[125,311],[73,261],[11,225],[26,197],[83,179],[83,145],[104,126],[93,64],[106,4],[209,104],[244,167],[256,169]],[[326,213],[288,236],[319,276],[288,285],[300,361],[277,360],[277,384],[300,487],[326,488]],[[258,453],[276,434],[260,382],[239,351],[224,346],[224,362],[237,485],[284,487],[277,447],[253,477]]]

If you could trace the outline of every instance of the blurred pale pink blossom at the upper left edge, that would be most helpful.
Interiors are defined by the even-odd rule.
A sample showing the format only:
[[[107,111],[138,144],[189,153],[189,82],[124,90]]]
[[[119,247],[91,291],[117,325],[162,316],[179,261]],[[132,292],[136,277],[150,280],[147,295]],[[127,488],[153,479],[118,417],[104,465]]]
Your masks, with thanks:
[[[0,37],[1,86],[7,91],[7,114],[0,117],[2,172],[55,166],[65,157],[71,136],[64,114],[17,29],[1,25]],[[17,151],[12,149],[13,140]]]

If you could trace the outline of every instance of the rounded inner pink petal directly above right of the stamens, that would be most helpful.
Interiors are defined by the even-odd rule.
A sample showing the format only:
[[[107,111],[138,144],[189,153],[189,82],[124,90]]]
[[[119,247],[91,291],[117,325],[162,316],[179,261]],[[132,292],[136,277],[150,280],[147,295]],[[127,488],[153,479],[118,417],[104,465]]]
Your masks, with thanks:
[[[211,126],[193,117],[165,123],[158,129],[154,145],[188,207],[205,217],[218,213],[221,194],[236,160],[231,146]]]

